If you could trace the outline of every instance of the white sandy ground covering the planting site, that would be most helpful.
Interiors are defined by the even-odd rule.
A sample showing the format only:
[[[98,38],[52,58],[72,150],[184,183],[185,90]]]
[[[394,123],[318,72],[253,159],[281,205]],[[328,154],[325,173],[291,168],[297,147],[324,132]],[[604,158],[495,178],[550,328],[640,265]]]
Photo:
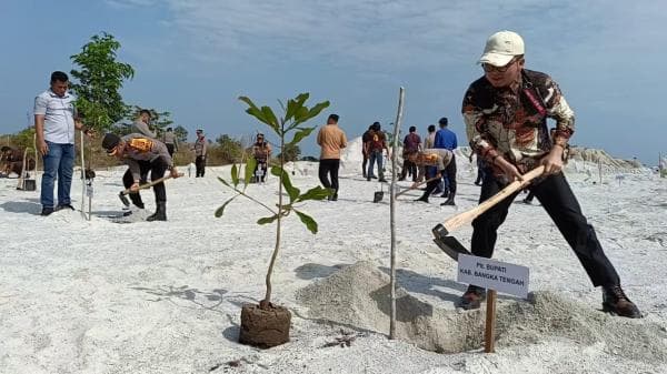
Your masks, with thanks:
[[[355,158],[355,152],[346,155],[338,202],[302,208],[319,222],[317,235],[292,216],[285,222],[273,302],[292,311],[291,342],[266,351],[240,345],[237,336],[240,305],[263,296],[275,225],[258,226],[266,212],[242,199],[223,218],[213,216],[232,195],[217,180],[228,176],[229,168],[208,168],[203,179],[169,181],[169,221],[153,223],[118,224],[100,216],[120,211],[123,168],[97,171],[91,221],[78,211],[39,216],[39,191],[17,191],[16,180],[0,180],[0,373],[667,372],[667,180],[649,171],[615,171],[594,184],[597,165],[570,164],[567,171],[645,319],[599,312],[599,290],[547,214],[537,202],[517,200],[495,257],[529,266],[530,289],[544,303],[532,307],[501,295],[500,311],[510,313],[499,313],[497,353],[480,353],[479,346],[440,354],[389,341],[386,307],[365,291],[386,277],[389,266],[389,198],[372,203],[379,184],[361,179]],[[399,199],[398,284],[416,305],[432,310],[434,321],[441,315],[450,323],[430,326],[475,335],[474,324],[451,325],[478,319],[479,312],[455,310],[465,285],[456,282],[456,263],[432,244],[430,233],[436,223],[477,202],[475,170],[462,156],[458,166],[456,208],[440,206],[435,196],[429,204],[412,202],[417,191]],[[302,190],[318,183],[316,163],[289,170]],[[276,201],[276,183],[270,178],[248,191]],[[77,208],[80,189],[76,180]],[[152,192],[142,195],[152,211]],[[468,244],[470,233],[466,226],[455,235]],[[356,269],[360,282],[336,282],[342,274],[336,272],[350,264],[357,264],[347,269]],[[308,297],[308,290],[322,285],[330,290]],[[340,313],[329,313],[335,305],[312,304],[336,297]],[[328,346],[350,336],[349,347]]]

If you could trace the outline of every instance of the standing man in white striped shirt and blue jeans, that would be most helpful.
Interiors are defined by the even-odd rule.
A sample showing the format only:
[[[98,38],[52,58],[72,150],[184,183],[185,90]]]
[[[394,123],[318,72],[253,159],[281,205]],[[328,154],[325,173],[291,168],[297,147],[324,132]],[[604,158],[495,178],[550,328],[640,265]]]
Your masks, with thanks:
[[[59,209],[74,210],[70,199],[74,170],[74,129],[89,134],[74,108],[77,98],[68,91],[69,78],[62,71],[51,73],[51,87],[34,98],[37,149],[42,155],[41,215]],[[58,205],[53,202],[58,179]]]

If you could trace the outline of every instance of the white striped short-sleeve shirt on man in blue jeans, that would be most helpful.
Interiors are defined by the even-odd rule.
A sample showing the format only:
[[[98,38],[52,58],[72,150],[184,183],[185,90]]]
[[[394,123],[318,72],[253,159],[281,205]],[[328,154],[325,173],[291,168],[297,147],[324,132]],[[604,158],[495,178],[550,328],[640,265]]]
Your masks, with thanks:
[[[58,144],[74,143],[74,101],[77,97],[66,92],[57,95],[51,89],[34,98],[34,114],[44,115],[44,140]]]

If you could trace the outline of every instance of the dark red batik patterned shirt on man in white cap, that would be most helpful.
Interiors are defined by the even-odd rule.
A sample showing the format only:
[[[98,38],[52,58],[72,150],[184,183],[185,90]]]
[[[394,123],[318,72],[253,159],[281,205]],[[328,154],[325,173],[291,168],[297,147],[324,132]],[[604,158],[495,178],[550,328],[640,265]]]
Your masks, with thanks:
[[[554,144],[565,149],[575,131],[575,113],[558,84],[537,71],[524,70],[516,90],[478,79],[468,88],[461,111],[470,146],[490,164],[497,155],[515,164],[535,163]],[[556,121],[551,137],[547,118]]]

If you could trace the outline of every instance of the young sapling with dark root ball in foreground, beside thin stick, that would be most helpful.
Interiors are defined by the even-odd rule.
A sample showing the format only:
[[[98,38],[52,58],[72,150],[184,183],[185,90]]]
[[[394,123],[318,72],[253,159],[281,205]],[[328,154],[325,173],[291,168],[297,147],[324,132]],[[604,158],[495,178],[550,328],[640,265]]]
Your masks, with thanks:
[[[318,231],[317,222],[297,206],[308,200],[323,200],[331,194],[330,190],[321,186],[312,188],[303,193],[301,190],[292,185],[289,174],[285,171],[286,163],[283,154],[285,150],[296,146],[303,138],[308,137],[316,128],[303,127],[303,123],[313,117],[318,115],[325,108],[329,107],[329,102],[320,102],[312,108],[306,107],[309,93],[301,93],[295,99],[287,101],[287,108],[280,103],[283,111],[283,117],[278,118],[273,110],[269,107],[258,108],[249,98],[240,97],[239,100],[248,104],[246,112],[255,117],[260,122],[267,124],[280,139],[280,161],[278,165],[271,166],[271,174],[278,176],[278,204],[277,209],[271,208],[271,204],[263,203],[246,192],[250,179],[255,171],[257,162],[255,159],[248,159],[242,180],[239,176],[240,168],[236,164],[231,168],[231,182],[220,178],[220,181],[237,194],[227,200],[216,211],[216,216],[221,216],[227,205],[238,196],[247,198],[255,203],[263,206],[269,213],[269,216],[261,218],[257,221],[258,224],[268,224],[276,222],[276,245],[271,254],[271,261],[266,275],[266,294],[265,299],[259,302],[259,305],[246,304],[241,309],[241,333],[239,341],[251,345],[269,347],[282,344],[289,341],[289,325],[291,315],[289,311],[281,306],[271,304],[271,274],[276,264],[276,259],[280,250],[281,239],[281,220],[287,218],[292,212],[301,220],[306,228],[313,234]],[[286,142],[287,134],[293,132],[291,141]],[[239,186],[242,182],[242,188]],[[285,201],[282,191],[287,192],[289,201]]]

